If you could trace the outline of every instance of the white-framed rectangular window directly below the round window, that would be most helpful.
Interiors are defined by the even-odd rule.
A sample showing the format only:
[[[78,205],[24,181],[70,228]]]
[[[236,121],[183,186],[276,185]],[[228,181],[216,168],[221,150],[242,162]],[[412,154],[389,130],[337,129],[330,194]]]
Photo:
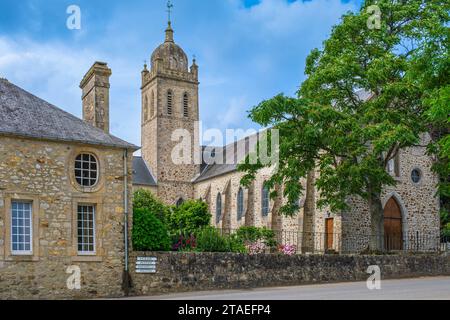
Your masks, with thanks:
[[[95,253],[95,207],[78,206],[78,253]]]

